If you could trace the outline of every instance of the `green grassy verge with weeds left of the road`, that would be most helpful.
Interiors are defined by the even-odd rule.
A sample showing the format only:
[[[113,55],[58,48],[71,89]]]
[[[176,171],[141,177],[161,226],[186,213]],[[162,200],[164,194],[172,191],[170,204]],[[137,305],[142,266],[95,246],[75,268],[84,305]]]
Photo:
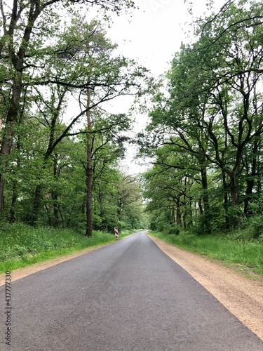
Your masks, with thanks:
[[[119,239],[132,233],[132,230],[123,230]],[[107,232],[94,231],[93,236],[88,238],[74,230],[1,223],[0,274],[113,241],[114,234]]]

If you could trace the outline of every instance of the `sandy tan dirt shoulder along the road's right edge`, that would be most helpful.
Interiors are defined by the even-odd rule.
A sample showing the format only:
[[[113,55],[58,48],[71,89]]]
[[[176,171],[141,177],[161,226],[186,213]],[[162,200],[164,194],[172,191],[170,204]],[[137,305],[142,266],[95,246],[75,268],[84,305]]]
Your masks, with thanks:
[[[148,237],[263,340],[263,281],[248,279],[196,253]]]

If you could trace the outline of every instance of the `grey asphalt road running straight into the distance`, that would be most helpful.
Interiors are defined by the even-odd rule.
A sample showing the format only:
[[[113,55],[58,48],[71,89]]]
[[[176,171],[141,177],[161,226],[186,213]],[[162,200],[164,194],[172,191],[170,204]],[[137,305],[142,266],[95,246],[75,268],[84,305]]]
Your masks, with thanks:
[[[263,342],[144,232],[11,285],[0,350],[263,351]]]

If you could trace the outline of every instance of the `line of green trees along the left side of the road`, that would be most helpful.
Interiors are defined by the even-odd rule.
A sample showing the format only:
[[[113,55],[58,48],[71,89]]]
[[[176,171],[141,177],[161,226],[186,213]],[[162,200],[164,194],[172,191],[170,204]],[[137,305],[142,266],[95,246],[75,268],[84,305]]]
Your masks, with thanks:
[[[116,54],[99,20],[87,22],[91,6],[106,15],[134,4],[1,1],[2,220],[86,228],[88,236],[93,227],[140,227],[140,186],[118,170],[130,117],[104,106],[143,94],[149,77]]]

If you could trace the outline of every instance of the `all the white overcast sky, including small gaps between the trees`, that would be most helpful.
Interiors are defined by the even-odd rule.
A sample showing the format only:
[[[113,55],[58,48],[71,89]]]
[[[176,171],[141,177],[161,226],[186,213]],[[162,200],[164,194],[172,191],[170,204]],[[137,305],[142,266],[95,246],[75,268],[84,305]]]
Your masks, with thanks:
[[[206,1],[193,2],[195,17],[203,15]],[[217,0],[218,4],[222,2],[223,0]],[[132,17],[113,17],[114,23],[107,35],[119,45],[124,56],[137,60],[150,69],[155,77],[159,77],[169,69],[173,55],[180,50],[182,41],[187,41],[185,33],[189,32],[192,19],[184,0],[141,0],[140,10],[133,11]],[[112,107],[109,107],[110,112],[126,113],[132,102],[129,98],[116,98],[111,103]],[[147,116],[138,115],[136,121],[135,132],[143,128]],[[140,173],[147,169],[147,166],[140,166],[133,159],[135,152],[135,147],[130,147],[127,160],[123,163],[128,173]]]

